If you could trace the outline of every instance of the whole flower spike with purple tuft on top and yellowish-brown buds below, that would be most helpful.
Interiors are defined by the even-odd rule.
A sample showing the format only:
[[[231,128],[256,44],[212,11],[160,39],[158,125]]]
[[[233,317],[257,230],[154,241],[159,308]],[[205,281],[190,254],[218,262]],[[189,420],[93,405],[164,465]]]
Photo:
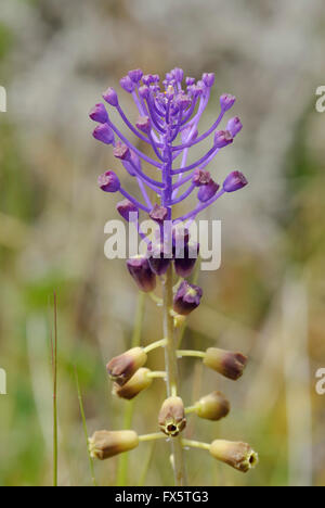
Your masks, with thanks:
[[[198,356],[207,367],[233,380],[242,376],[247,361],[239,353],[217,348],[205,353],[177,351],[173,332],[170,332],[170,325],[174,328],[183,322],[185,316],[199,306],[203,297],[199,287],[184,280],[191,276],[199,253],[199,245],[191,240],[192,221],[222,195],[247,186],[245,176],[238,170],[232,172],[222,185],[207,170],[219,151],[232,144],[243,128],[240,119],[235,116],[226,120],[224,129],[220,129],[236,100],[231,94],[222,94],[218,118],[206,132],[199,134],[198,124],[213,85],[214,74],[204,74],[196,81],[192,77],[184,78],[183,71],[174,68],[160,80],[156,74],[144,75],[141,69],[130,71],[120,80],[120,86],[134,100],[139,113],[135,125],[127,117],[114,88],[103,93],[105,102],[116,110],[140,145],[152,150],[151,155],[146,150],[140,150],[138,142],[133,144],[128,140],[112,120],[104,103],[96,104],[90,113],[90,117],[99,124],[93,137],[113,147],[114,156],[120,161],[128,175],[136,179],[142,194],[141,200],[131,195],[110,169],[99,177],[99,186],[104,192],[121,194],[122,201],[117,204],[118,213],[125,220],[136,225],[139,234],[147,243],[145,254],[128,259],[128,270],[142,292],[153,293],[159,278],[166,290],[162,303],[166,309],[165,334],[168,336],[145,348],[135,347],[123,353],[108,363],[107,370],[114,381],[114,393],[126,399],[133,398],[148,388],[155,377],[166,379],[168,398],[161,406],[158,424],[162,437],[167,435],[176,442],[180,440],[179,449],[173,449],[174,462],[179,462],[179,466],[174,463],[177,478],[181,475],[177,470],[181,467],[180,447],[183,446],[206,447],[212,456],[240,471],[247,471],[257,461],[255,452],[243,443],[214,441],[211,445],[205,445],[180,437],[186,427],[188,412],[217,421],[229,414],[230,405],[221,393],[213,392],[185,408],[179,396],[178,358]],[[209,150],[199,160],[188,163],[190,149],[207,139],[211,140]],[[154,172],[148,173],[144,164]],[[154,173],[157,177],[153,177]],[[177,205],[194,192],[197,195],[194,208],[178,216],[174,212]],[[141,229],[142,213],[157,225],[154,239],[147,238]],[[180,281],[172,294],[173,269]],[[144,367],[147,353],[155,347],[167,351],[166,372],[152,372]],[[157,434],[152,435],[157,439]],[[98,432],[90,441],[91,454],[104,459],[130,450],[148,439],[131,431]],[[179,480],[179,483],[182,482]]]

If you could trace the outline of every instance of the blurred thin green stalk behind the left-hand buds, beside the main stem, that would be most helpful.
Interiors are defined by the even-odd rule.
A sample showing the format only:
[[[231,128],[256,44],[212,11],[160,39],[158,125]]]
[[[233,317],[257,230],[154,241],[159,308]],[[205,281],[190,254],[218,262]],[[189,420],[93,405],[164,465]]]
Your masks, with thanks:
[[[142,325],[144,317],[145,307],[145,293],[139,293],[136,313],[134,319],[134,328],[132,335],[132,347],[138,347],[141,344]],[[134,401],[130,401],[125,410],[123,415],[123,429],[129,430],[132,427],[134,414]],[[117,486],[126,486],[128,482],[128,462],[129,454],[122,454],[118,460],[117,468]]]

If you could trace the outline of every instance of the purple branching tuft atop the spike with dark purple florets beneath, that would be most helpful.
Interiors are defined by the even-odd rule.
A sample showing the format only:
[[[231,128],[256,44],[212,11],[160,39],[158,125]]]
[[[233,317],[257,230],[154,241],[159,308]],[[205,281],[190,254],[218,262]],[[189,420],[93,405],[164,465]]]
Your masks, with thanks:
[[[140,213],[158,224],[158,244],[167,242],[168,221],[172,233],[174,267],[180,277],[187,277],[195,265],[195,259],[187,255],[187,221],[191,224],[199,213],[222,195],[247,185],[242,173],[234,172],[225,179],[222,191],[218,192],[219,186],[214,177],[212,178],[214,157],[220,150],[233,143],[243,127],[238,117],[226,118],[226,112],[236,99],[225,93],[220,98],[217,119],[205,132],[200,132],[199,120],[214,80],[213,73],[204,73],[202,79],[196,80],[184,76],[183,69],[179,67],[167,73],[161,79],[157,74],[144,75],[140,68],[130,71],[120,79],[120,86],[131,93],[134,101],[139,114],[135,124],[122,110],[115,89],[109,87],[103,93],[103,98],[110,106],[116,107],[116,114],[132,138],[136,138],[136,142],[130,141],[125,131],[110,119],[104,104],[96,104],[91,112],[91,117],[100,124],[93,132],[94,138],[113,144],[114,156],[133,177],[133,182],[139,183],[142,198],[131,195],[112,172],[100,177],[101,188],[107,192],[119,191],[123,201],[117,205],[118,213],[126,220],[136,223],[139,233],[147,244],[151,239],[144,238],[141,230]],[[209,139],[212,140],[210,149],[198,160],[190,162],[191,149]],[[146,150],[142,150],[142,147]],[[196,188],[198,203],[183,215],[177,214],[176,206],[193,194]],[[184,226],[182,238],[178,231],[180,226]],[[179,243],[182,243],[183,257],[177,256]],[[140,274],[141,270],[146,272],[147,280],[153,283],[155,274],[164,275],[170,259],[165,259],[161,246],[155,246],[156,256],[153,247],[151,249],[148,259],[141,259],[141,263],[139,259],[132,259],[128,266],[134,278],[136,268]],[[176,307],[180,312],[183,312],[184,306],[187,309],[195,308],[200,296],[199,288],[182,284],[176,297]]]

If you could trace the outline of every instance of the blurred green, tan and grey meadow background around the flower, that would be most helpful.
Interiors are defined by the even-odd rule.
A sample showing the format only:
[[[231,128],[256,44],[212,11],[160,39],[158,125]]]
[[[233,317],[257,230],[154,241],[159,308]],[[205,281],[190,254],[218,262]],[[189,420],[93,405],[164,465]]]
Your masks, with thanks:
[[[221,423],[191,418],[187,435],[249,442],[260,465],[243,475],[188,450],[190,483],[325,484],[325,396],[315,391],[325,368],[325,114],[315,110],[324,42],[323,0],[1,0],[0,485],[51,484],[53,291],[60,484],[91,483],[75,364],[89,432],[122,427],[125,404],[110,395],[105,364],[130,344],[138,294],[125,263],[104,257],[116,198],[98,190],[96,177],[116,162],[92,139],[88,113],[128,69],[174,66],[217,75],[202,130],[219,94],[237,96],[245,128],[211,170],[222,179],[240,169],[250,182],[206,216],[222,219],[223,262],[200,274],[205,299],[184,339],[186,347],[240,350],[250,365],[238,383],[190,359],[181,370],[187,404],[213,389],[232,402]],[[161,338],[158,322],[146,301],[143,343]],[[161,361],[154,354],[151,367]],[[158,380],[136,399],[133,428],[156,431],[162,399]],[[171,484],[168,452],[161,442],[132,452],[129,484],[150,458],[145,483]],[[96,465],[100,484],[115,484],[117,465]]]

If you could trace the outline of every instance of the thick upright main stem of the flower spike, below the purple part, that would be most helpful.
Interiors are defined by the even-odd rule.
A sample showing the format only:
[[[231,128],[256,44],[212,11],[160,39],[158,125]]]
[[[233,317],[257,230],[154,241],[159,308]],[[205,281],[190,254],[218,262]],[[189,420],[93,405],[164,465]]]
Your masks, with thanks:
[[[165,364],[167,373],[167,395],[168,397],[179,393],[178,359],[174,344],[173,318],[170,315],[172,308],[172,265],[170,265],[162,282],[164,294],[164,336],[167,339],[165,348]],[[173,456],[174,481],[177,486],[185,486],[185,465],[180,436],[171,440]]]

